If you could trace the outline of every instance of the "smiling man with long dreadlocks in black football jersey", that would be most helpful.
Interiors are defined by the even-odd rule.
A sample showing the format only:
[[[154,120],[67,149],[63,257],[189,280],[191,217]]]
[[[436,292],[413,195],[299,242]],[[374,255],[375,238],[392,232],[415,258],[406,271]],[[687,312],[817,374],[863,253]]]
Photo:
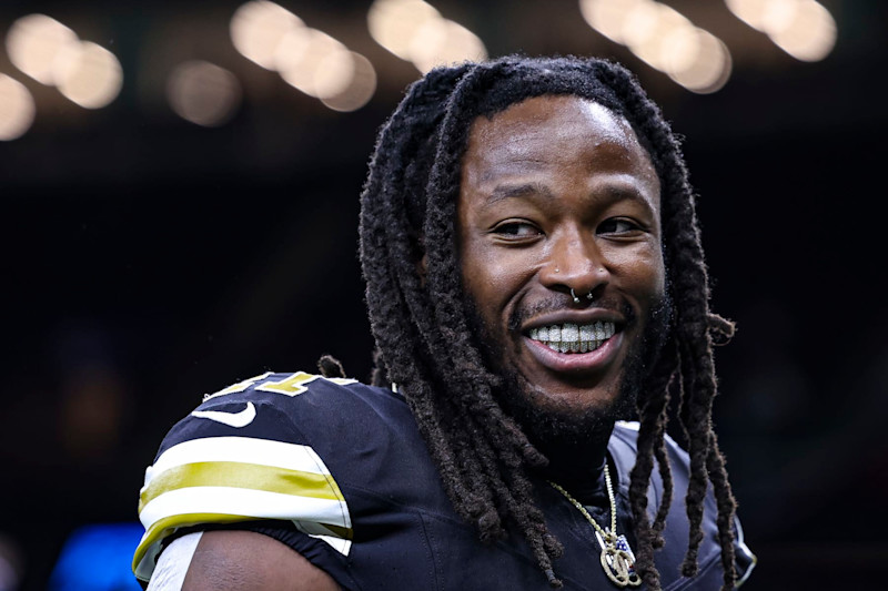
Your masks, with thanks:
[[[743,543],[677,142],[629,72],[430,72],[362,195],[373,386],[263,374],[145,475],[148,589],[730,589]],[[688,450],[667,435],[669,399]],[[625,422],[624,419],[636,419]],[[150,582],[149,582],[150,581]]]

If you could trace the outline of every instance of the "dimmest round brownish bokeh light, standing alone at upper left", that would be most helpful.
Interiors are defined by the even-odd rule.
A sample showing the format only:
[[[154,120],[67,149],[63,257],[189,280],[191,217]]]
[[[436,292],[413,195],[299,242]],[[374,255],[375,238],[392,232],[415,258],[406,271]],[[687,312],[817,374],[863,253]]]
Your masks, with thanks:
[[[167,84],[167,95],[173,111],[182,119],[204,128],[228,122],[241,103],[241,84],[234,74],[200,60],[176,67]]]

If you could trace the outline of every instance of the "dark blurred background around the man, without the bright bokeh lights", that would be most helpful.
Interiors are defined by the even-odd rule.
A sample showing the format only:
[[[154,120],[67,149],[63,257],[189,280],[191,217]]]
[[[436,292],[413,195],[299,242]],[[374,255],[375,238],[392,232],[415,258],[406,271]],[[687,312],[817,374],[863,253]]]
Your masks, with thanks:
[[[135,519],[144,467],[202,394],[313,370],[322,353],[367,377],[357,194],[418,72],[370,38],[370,2],[282,3],[373,62],[366,106],[333,112],[240,57],[239,2],[0,7],[3,32],[44,12],[124,71],[121,95],[88,111],[0,52],[37,101],[29,133],[0,142],[0,541],[23,557],[22,589],[43,588],[78,527]],[[433,3],[492,55],[604,55],[637,72],[686,137],[714,308],[739,327],[717,354],[716,421],[759,557],[747,588],[875,584],[888,565],[888,4],[824,0],[838,41],[805,63],[722,2],[668,1],[733,54],[725,88],[697,95],[589,29],[575,0]],[[228,124],[165,104],[162,80],[185,59],[241,80]]]

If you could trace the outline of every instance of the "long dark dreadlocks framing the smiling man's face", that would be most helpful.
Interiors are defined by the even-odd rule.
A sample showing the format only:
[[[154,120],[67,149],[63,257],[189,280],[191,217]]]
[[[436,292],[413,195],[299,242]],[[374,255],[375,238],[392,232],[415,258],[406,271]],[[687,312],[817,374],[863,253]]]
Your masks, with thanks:
[[[472,122],[546,94],[576,95],[625,116],[650,153],[662,185],[664,257],[675,316],[638,397],[638,456],[629,487],[636,568],[649,589],[659,589],[654,550],[664,543],[673,489],[664,436],[670,395],[678,396],[678,420],[690,456],[690,538],[682,572],[696,573],[703,500],[712,482],[724,589],[730,589],[736,579],[735,501],[713,432],[712,405],[713,345],[726,342],[733,325],[709,312],[694,197],[678,143],[659,109],[624,68],[597,59],[508,57],[436,69],[408,89],[382,129],[361,201],[361,261],[377,345],[373,383],[394,381],[405,395],[447,495],[481,539],[515,528],[549,583],[559,587],[553,559],[562,546],[547,530],[529,477],[547,460],[504,412],[495,396],[502,379],[473,343],[454,227]],[[665,491],[652,523],[647,487],[655,459]]]

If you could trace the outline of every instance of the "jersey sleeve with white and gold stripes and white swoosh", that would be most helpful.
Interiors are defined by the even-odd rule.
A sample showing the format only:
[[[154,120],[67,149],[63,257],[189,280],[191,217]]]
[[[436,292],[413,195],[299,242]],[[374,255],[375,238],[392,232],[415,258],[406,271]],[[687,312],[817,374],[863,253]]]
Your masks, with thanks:
[[[326,383],[322,389],[354,381],[263,374],[205,396],[170,430],[145,470],[139,497],[145,533],[133,572],[140,581],[151,578],[165,539],[195,528],[242,523],[254,529],[266,522],[280,530],[284,523],[301,537],[301,553],[347,557],[347,503],[299,428],[301,420],[311,420],[311,405],[297,397],[317,389],[313,383],[319,380]]]

